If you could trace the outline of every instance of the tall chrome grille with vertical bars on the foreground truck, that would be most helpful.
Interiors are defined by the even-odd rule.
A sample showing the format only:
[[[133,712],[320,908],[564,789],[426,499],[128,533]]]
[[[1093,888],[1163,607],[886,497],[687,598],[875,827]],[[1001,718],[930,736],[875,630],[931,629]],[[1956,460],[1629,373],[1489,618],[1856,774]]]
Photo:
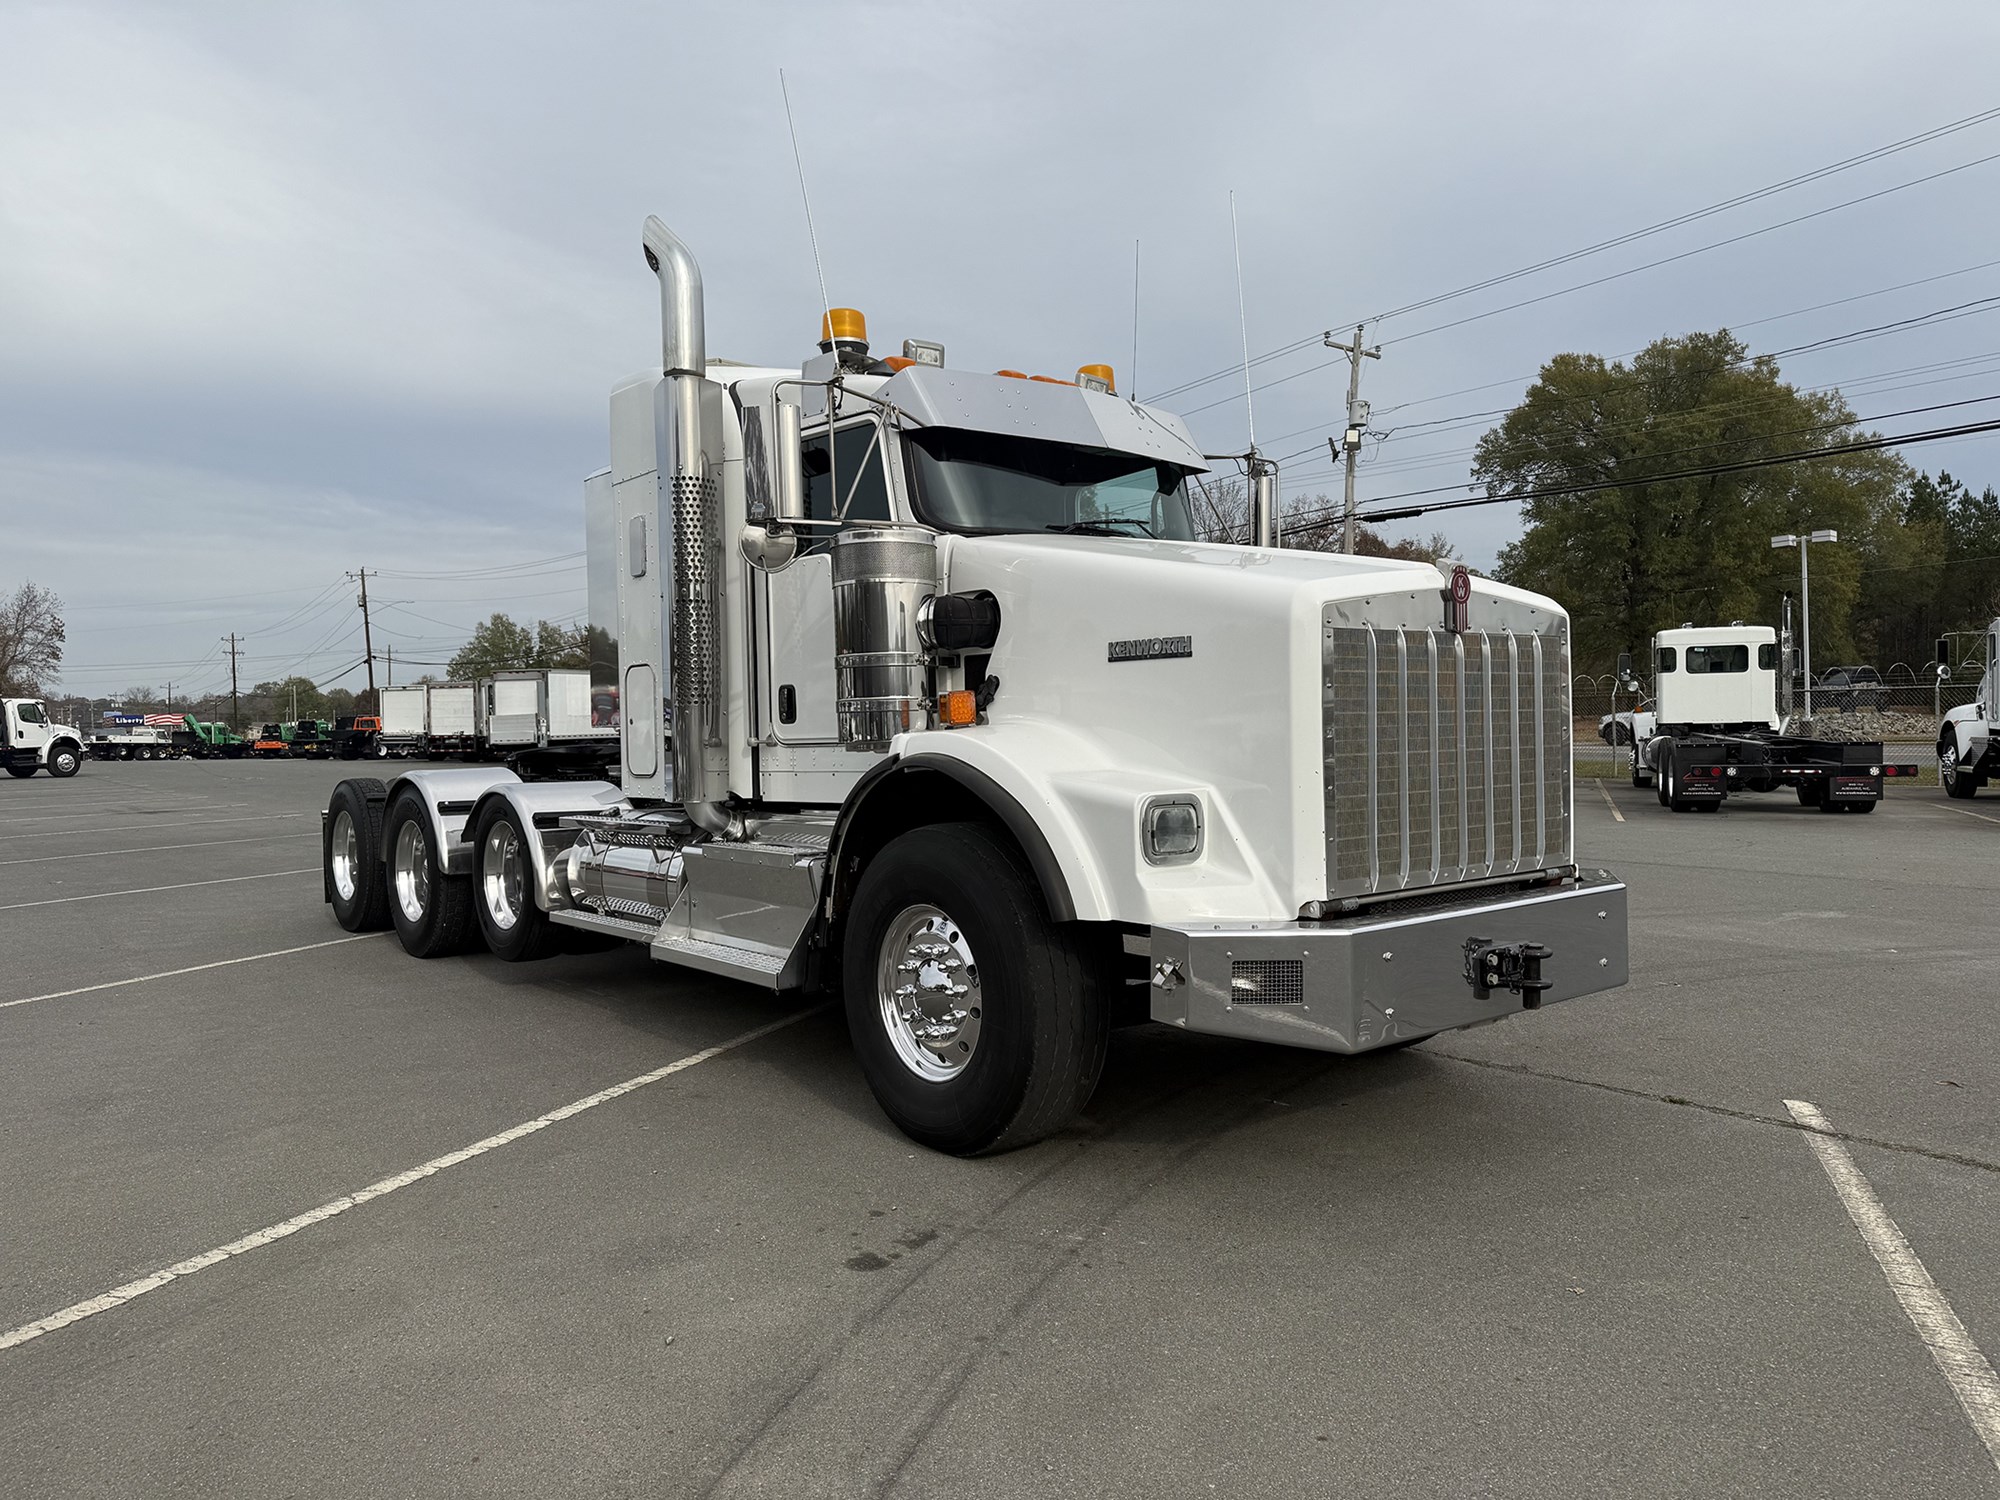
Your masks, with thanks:
[[[1342,624],[1328,606],[1322,728],[1330,896],[1570,864],[1564,622]]]

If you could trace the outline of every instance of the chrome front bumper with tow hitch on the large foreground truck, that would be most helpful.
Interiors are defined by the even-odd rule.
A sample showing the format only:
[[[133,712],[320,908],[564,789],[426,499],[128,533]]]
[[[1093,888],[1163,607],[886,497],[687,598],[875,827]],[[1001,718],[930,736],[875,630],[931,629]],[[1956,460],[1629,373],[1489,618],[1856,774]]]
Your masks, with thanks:
[[[1322,1052],[1366,1052],[1532,1004],[1616,990],[1628,978],[1626,888],[1598,870],[1494,900],[1324,922],[1152,928],[1152,1018],[1190,1032]],[[1468,978],[1468,944],[1542,948],[1542,990]]]

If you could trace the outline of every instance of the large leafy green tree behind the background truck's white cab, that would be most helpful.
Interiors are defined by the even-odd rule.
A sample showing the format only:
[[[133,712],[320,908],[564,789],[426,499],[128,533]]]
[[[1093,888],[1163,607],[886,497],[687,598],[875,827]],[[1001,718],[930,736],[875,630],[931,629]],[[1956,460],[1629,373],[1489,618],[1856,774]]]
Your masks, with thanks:
[[[1826,526],[1846,542],[1812,554],[1812,644],[1830,662],[1856,652],[1860,580],[1902,514],[1902,460],[1870,452],[1654,476],[1856,436],[1838,392],[1786,384],[1774,360],[1750,358],[1720,330],[1656,340],[1632,364],[1558,354],[1480,438],[1472,472],[1490,494],[1522,496],[1524,532],[1500,552],[1498,574],[1570,610],[1578,670],[1604,670],[1684,620],[1776,620],[1798,554],[1774,552],[1770,538]],[[1570,486],[1604,488],[1542,494]]]

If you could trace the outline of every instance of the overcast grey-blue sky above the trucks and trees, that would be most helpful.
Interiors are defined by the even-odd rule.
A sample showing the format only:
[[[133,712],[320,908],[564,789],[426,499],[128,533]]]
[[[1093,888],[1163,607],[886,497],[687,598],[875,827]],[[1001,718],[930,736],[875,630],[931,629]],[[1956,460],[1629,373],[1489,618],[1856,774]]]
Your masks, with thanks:
[[[360,656],[342,572],[362,566],[382,570],[378,650],[412,664],[496,608],[578,618],[606,396],[658,360],[640,220],[702,262],[710,354],[812,350],[780,68],[828,290],[878,350],[1104,360],[1130,392],[1138,240],[1154,394],[1240,360],[1232,190],[1260,354],[2000,106],[1996,42],[1992,4],[1830,0],[12,0],[0,590],[68,602],[76,694],[226,688],[230,630],[246,682],[332,678]],[[1994,154],[2000,120],[1372,324],[1364,394],[1390,436],[1364,500],[1464,482],[1490,422],[1468,414],[1562,350],[1724,324],[1780,350],[2000,294],[2000,160],[1566,290]],[[2000,312],[1784,368],[1864,416],[1984,396]],[[1344,360],[1310,346],[1256,372],[1280,376],[1258,440],[1298,454],[1288,494],[1338,494]],[[1210,450],[1244,446],[1240,374],[1166,404]],[[1440,418],[1466,420],[1414,426]],[[1910,458],[2000,484],[1992,438]],[[1436,526],[1490,562],[1516,518],[1408,530]]]

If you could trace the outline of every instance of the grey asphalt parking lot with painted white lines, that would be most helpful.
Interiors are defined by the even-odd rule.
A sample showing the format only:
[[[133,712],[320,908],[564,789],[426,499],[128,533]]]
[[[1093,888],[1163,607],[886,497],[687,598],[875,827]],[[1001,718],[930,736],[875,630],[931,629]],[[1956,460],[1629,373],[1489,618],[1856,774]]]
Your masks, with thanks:
[[[1786,1104],[2000,1350],[2000,796],[1580,782],[1626,990],[1124,1030],[1078,1128],[954,1160],[830,1010],[340,932],[350,770],[0,786],[6,1494],[2000,1492]]]

